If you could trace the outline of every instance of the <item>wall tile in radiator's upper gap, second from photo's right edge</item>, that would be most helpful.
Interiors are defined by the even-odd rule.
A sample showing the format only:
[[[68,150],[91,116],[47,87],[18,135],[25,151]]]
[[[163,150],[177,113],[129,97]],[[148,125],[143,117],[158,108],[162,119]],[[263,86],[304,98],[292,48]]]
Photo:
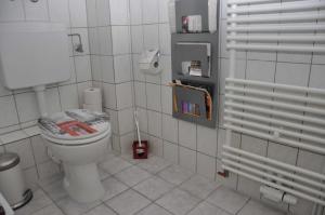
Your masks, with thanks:
[[[275,82],[290,85],[308,85],[310,65],[277,63]]]

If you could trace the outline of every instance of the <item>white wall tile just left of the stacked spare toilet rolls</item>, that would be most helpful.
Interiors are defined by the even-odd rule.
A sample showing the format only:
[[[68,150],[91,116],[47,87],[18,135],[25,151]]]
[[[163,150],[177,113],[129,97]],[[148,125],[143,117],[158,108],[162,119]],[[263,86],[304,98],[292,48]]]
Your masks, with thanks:
[[[63,110],[79,108],[78,89],[76,84],[58,86]]]

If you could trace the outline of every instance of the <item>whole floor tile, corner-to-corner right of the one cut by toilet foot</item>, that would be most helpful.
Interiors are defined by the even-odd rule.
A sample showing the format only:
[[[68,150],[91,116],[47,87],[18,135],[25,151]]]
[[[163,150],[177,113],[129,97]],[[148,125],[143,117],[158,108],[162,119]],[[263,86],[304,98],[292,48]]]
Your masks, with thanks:
[[[144,194],[146,198],[151,200],[156,200],[166,192],[170,191],[173,188],[173,185],[162,180],[159,177],[151,177],[139,185],[136,185],[133,189]]]

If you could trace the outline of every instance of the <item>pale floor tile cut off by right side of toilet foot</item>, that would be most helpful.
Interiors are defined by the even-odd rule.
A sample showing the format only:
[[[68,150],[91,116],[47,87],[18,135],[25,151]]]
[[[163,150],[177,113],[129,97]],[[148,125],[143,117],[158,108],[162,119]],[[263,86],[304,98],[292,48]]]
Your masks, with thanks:
[[[115,197],[128,189],[128,187],[126,185],[118,182],[114,177],[109,177],[109,178],[103,180],[103,186],[106,190],[103,201],[107,201],[108,199],[112,199],[113,197]]]

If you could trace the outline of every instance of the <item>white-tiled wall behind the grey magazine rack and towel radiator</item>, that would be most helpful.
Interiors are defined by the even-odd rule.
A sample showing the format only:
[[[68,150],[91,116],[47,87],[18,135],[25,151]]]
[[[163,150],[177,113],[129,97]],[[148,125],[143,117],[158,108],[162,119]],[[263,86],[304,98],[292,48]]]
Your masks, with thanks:
[[[220,10],[219,123],[214,130],[171,117],[172,96],[168,86],[171,81],[170,32],[167,4],[168,0],[130,0],[134,100],[140,111],[141,131],[150,139],[153,153],[259,199],[260,184],[233,174],[230,178],[223,179],[217,174],[221,169],[221,150],[225,140],[222,120],[224,78],[227,77],[229,67],[229,53],[225,49],[225,0],[221,1]],[[160,49],[165,69],[160,76],[144,76],[138,69],[139,54],[153,48]],[[325,89],[325,56],[242,52],[237,58],[237,77]],[[244,134],[233,136],[234,145],[258,154],[318,172],[325,165],[325,157],[321,154]],[[280,206],[288,210],[287,205]],[[295,214],[306,215],[310,214],[311,207],[312,203],[301,200],[290,210]]]

